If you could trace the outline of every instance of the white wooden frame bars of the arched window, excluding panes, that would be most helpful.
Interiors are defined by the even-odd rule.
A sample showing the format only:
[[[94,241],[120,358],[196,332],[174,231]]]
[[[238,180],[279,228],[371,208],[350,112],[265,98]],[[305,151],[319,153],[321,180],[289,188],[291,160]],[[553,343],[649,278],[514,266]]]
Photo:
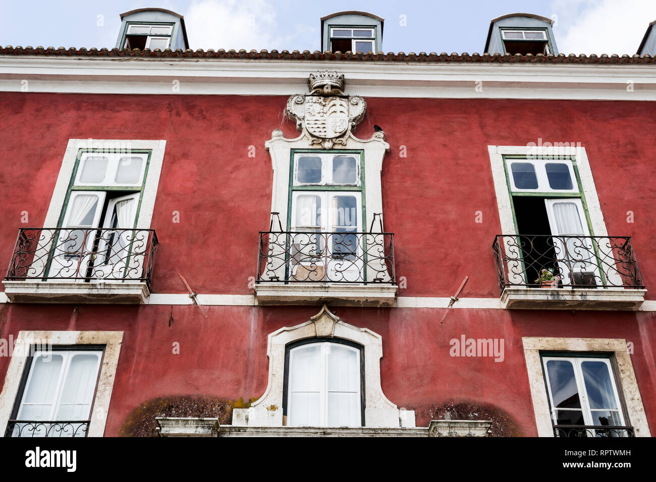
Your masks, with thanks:
[[[319,426],[321,427],[328,427],[329,426],[329,394],[331,393],[331,390],[329,390],[328,387],[328,378],[329,378],[329,358],[330,358],[330,348],[333,346],[339,346],[340,348],[346,348],[347,350],[353,351],[356,353],[356,371],[358,373],[358,390],[356,392],[348,392],[348,393],[356,393],[357,399],[358,399],[358,406],[359,406],[359,412],[358,412],[358,418],[360,420],[360,423],[358,425],[354,425],[354,427],[359,427],[362,424],[362,399],[361,399],[361,393],[360,393],[360,386],[361,386],[361,372],[360,372],[360,350],[358,348],[355,348],[353,346],[347,345],[347,344],[340,344],[340,343],[333,343],[333,342],[317,342],[317,343],[306,343],[306,344],[301,344],[299,346],[295,346],[294,348],[291,348],[289,350],[289,369],[288,369],[288,389],[287,389],[287,425],[289,426],[298,426],[294,424],[293,418],[291,418],[291,411],[292,411],[292,386],[291,386],[291,378],[292,378],[292,370],[294,368],[294,351],[296,350],[302,350],[304,348],[308,348],[310,346],[321,346],[321,360],[319,363],[319,368],[321,371],[321,388],[319,392],[319,420],[321,420],[321,424]],[[300,391],[303,393],[306,393],[304,391]],[[334,392],[334,390],[332,391]]]

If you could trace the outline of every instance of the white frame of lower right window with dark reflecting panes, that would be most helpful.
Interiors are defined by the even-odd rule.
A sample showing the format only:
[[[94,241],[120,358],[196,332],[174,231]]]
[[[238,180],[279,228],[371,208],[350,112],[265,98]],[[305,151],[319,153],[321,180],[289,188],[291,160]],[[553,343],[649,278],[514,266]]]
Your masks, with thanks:
[[[556,408],[554,406],[554,397],[551,391],[551,381],[549,378],[549,371],[547,369],[547,363],[549,361],[556,360],[556,361],[569,361],[573,367],[574,371],[574,379],[576,382],[577,386],[577,392],[579,394],[579,404],[581,405],[581,408],[575,409],[562,409],[562,408]],[[587,426],[596,426],[594,423],[594,420],[592,418],[592,409],[590,408],[590,399],[588,397],[588,390],[585,386],[584,382],[584,377],[583,377],[583,368],[581,367],[581,364],[584,361],[600,361],[602,363],[605,363],[607,369],[608,369],[608,374],[611,379],[611,384],[613,386],[613,397],[615,398],[615,407],[616,409],[605,409],[607,411],[616,411],[619,414],[620,418],[620,426],[625,426],[625,418],[624,418],[624,413],[623,413],[623,405],[621,403],[621,400],[619,398],[619,394],[617,393],[617,384],[615,384],[615,374],[613,372],[613,367],[610,363],[610,359],[605,357],[605,358],[593,358],[593,357],[576,357],[576,356],[567,356],[567,355],[550,355],[550,356],[543,356],[542,357],[542,362],[543,362],[543,369],[544,369],[544,378],[546,381],[546,390],[549,395],[549,401],[550,401],[550,407],[551,407],[551,415],[552,415],[552,421],[554,426],[558,424],[558,415],[556,414],[557,411],[580,411],[583,413],[583,422],[584,425]],[[604,428],[604,426],[599,426],[600,430]]]

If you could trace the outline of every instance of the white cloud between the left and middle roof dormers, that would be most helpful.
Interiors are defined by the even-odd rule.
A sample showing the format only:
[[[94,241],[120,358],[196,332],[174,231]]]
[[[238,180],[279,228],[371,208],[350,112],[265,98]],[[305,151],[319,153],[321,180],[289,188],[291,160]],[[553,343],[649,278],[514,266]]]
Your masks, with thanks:
[[[270,0],[196,1],[184,21],[194,50],[303,50],[310,49],[304,39],[316,35],[316,29],[307,26],[280,26]]]

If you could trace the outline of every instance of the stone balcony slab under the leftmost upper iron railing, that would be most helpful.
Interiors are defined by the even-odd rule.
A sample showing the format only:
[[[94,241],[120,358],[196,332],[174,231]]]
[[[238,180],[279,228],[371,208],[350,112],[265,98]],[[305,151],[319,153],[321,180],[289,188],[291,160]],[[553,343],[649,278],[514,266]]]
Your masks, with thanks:
[[[145,304],[150,290],[145,281],[3,281],[11,303]]]

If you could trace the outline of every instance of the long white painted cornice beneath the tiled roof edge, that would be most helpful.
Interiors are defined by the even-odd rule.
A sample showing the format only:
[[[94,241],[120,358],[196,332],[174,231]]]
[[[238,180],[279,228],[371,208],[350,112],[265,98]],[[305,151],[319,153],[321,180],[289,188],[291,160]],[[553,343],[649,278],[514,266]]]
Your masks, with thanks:
[[[368,97],[656,100],[655,66],[649,64],[331,62],[330,67],[344,73],[348,94]],[[308,73],[325,68],[326,62],[310,60],[1,55],[0,91],[289,95],[304,92]]]

